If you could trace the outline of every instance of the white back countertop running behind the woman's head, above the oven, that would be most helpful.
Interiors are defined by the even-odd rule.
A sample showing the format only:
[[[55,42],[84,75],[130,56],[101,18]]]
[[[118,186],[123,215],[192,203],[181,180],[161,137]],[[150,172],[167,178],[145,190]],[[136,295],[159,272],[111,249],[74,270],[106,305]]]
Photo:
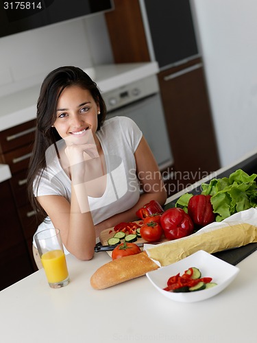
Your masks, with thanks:
[[[157,62],[104,64],[88,71],[101,93],[130,84],[149,75],[158,73]],[[23,91],[0,97],[0,130],[25,123],[36,118],[36,102],[40,84],[25,88]]]

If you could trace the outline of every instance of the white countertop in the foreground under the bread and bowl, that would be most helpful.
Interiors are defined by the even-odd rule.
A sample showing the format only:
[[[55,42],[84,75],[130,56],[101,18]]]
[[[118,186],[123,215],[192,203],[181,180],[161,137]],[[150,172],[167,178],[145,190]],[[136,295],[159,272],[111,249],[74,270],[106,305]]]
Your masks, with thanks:
[[[66,287],[51,289],[39,270],[3,289],[1,342],[256,342],[257,252],[223,292],[198,303],[165,298],[146,276],[95,290],[90,276],[108,261],[106,252],[69,255]]]

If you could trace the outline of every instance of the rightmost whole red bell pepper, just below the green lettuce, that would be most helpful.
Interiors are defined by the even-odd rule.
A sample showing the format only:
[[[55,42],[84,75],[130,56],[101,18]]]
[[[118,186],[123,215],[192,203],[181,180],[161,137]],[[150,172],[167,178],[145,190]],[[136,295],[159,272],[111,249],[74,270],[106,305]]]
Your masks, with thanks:
[[[210,202],[211,196],[200,194],[193,196],[188,201],[188,215],[190,215],[194,224],[203,227],[215,222],[215,213]]]

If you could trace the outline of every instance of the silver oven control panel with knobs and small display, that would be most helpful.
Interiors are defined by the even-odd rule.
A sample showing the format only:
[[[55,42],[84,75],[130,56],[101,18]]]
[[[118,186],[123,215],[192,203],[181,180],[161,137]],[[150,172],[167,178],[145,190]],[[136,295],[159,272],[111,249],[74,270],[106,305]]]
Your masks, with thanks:
[[[108,112],[117,108],[132,104],[149,95],[158,93],[158,79],[156,75],[147,76],[136,82],[126,84],[125,86],[103,93],[103,99],[106,102]]]

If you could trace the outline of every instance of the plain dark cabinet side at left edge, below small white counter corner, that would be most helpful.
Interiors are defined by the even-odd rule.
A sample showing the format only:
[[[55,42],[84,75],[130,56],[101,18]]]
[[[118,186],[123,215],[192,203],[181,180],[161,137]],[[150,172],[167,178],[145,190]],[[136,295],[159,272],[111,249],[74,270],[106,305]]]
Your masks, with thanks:
[[[34,272],[9,180],[0,183],[0,290]]]

